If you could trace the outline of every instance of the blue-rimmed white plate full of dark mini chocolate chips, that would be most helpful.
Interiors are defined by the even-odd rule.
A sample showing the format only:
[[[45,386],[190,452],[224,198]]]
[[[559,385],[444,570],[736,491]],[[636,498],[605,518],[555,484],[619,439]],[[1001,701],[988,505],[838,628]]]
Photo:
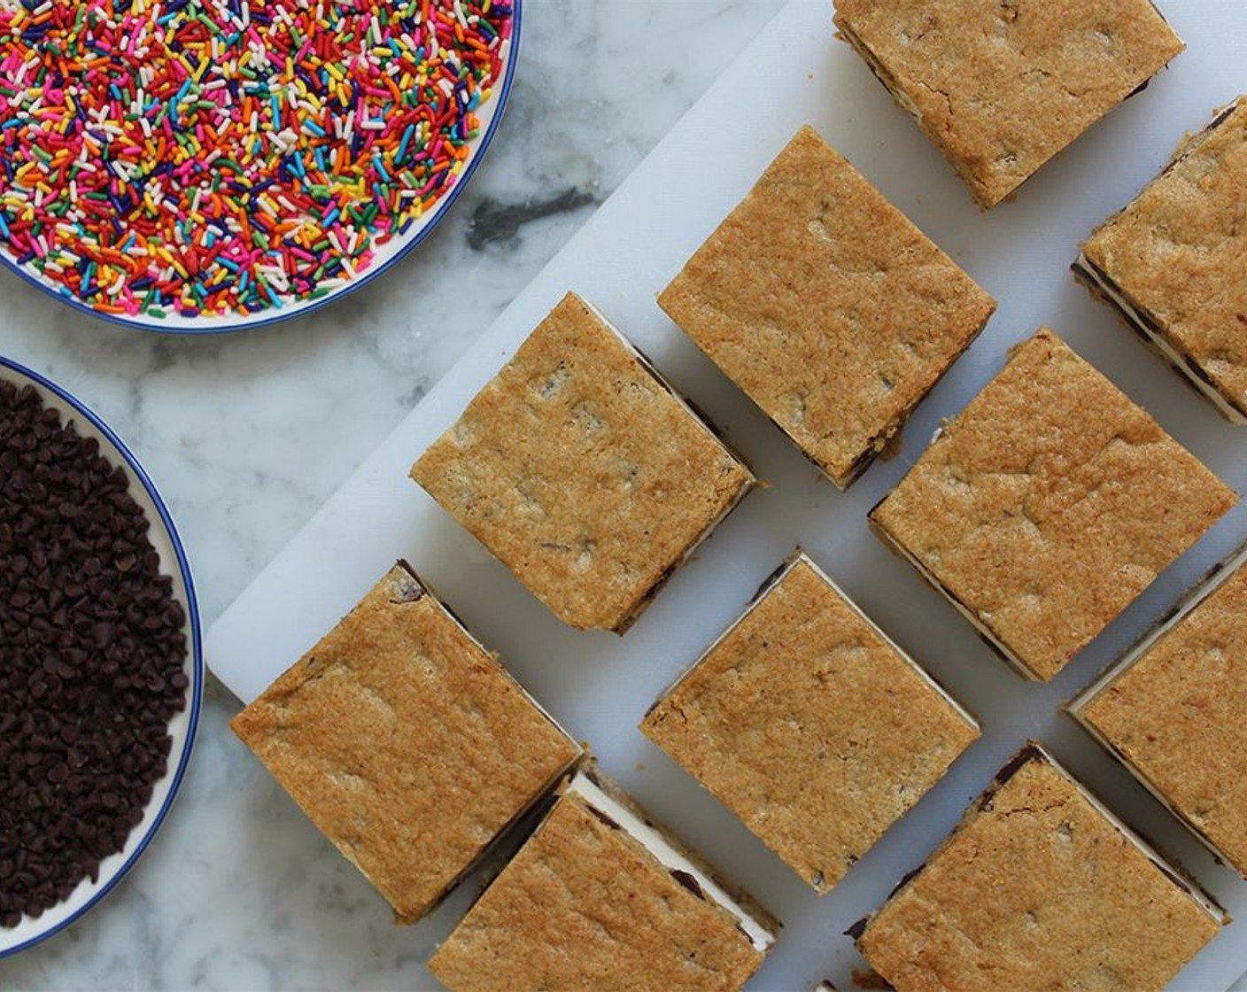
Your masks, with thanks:
[[[202,694],[195,588],[156,487],[104,421],[0,357],[0,957],[135,865]]]

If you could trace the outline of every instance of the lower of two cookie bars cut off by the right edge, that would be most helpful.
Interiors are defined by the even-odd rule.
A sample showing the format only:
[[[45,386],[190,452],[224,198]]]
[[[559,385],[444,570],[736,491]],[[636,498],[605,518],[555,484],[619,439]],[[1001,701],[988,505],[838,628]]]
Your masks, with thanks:
[[[1070,706],[1247,876],[1247,549]]]

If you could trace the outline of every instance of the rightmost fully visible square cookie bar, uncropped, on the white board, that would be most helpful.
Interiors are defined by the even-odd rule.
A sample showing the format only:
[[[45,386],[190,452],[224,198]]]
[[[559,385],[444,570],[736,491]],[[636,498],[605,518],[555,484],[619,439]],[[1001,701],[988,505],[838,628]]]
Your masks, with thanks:
[[[870,522],[1019,673],[1051,679],[1236,502],[1041,328]]]

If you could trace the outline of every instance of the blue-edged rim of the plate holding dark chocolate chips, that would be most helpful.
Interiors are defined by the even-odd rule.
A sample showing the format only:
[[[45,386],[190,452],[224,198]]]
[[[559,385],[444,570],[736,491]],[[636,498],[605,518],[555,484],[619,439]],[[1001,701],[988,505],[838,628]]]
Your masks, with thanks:
[[[100,886],[99,891],[95,892],[91,898],[82,903],[72,915],[67,916],[65,920],[60,921],[57,925],[49,927],[41,933],[35,935],[24,943],[19,943],[7,950],[0,950],[0,960],[6,957],[12,957],[14,955],[21,953],[36,943],[42,943],[49,937],[60,933],[66,927],[76,923],[86,913],[94,910],[100,901],[107,896],[117,883],[130,873],[130,870],[135,866],[140,857],[142,857],[143,851],[147,850],[147,845],[151,844],[152,839],[156,836],[157,831],[165,822],[165,817],[168,815],[170,809],[173,806],[173,800],[177,799],[177,794],[182,786],[182,779],[186,777],[186,769],[191,761],[191,751],[195,750],[195,732],[200,725],[200,706],[203,703],[203,638],[200,629],[200,606],[198,600],[195,595],[195,583],[191,578],[191,565],[186,557],[186,548],[182,545],[182,539],[178,537],[177,528],[173,525],[173,517],[168,512],[168,507],[165,505],[165,500],[161,499],[160,493],[156,490],[156,484],[151,480],[151,477],[138,463],[133,452],[126,447],[125,442],[113,432],[108,424],[106,424],[96,413],[87,408],[87,406],[80,401],[77,397],[69,393],[62,387],[57,386],[55,382],[49,379],[46,376],[41,376],[34,369],[26,368],[26,366],[20,362],[15,362],[11,358],[5,358],[0,354],[0,367],[7,368],[16,372],[19,376],[25,376],[36,386],[47,389],[50,393],[67,403],[77,413],[80,413],[86,421],[95,427],[101,434],[104,434],[108,443],[112,444],[122,459],[126,462],[126,467],[133,473],[135,478],[142,483],[143,489],[147,490],[147,495],[152,500],[152,505],[156,507],[156,512],[160,514],[161,523],[165,527],[165,532],[168,534],[170,544],[173,547],[173,554],[177,558],[177,568],[182,576],[182,584],[186,588],[186,605],[187,611],[191,616],[191,695],[187,701],[187,725],[186,725],[186,746],[182,749],[182,756],[177,762],[177,769],[173,771],[173,776],[170,780],[168,795],[165,797],[165,802],[161,804],[160,810],[156,814],[156,819],[152,820],[147,832],[143,835],[142,840],[138,841],[138,846],[131,852],[130,857],[126,858],[125,863],[113,873],[107,882]]]

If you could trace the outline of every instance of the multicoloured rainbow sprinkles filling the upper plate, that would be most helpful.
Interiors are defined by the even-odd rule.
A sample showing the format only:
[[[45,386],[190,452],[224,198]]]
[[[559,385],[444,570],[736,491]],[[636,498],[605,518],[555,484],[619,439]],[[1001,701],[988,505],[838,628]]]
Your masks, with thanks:
[[[97,311],[317,299],[464,170],[491,0],[0,0],[0,242]]]

